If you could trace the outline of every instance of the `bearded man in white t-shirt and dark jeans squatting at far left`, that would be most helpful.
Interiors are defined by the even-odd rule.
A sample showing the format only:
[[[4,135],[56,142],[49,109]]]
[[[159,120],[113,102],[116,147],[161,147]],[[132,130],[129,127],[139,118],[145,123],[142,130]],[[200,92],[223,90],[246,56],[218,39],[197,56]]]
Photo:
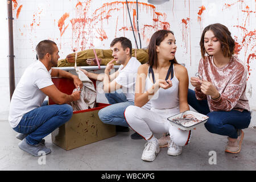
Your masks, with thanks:
[[[80,91],[71,95],[60,92],[53,84],[52,77],[65,77],[73,80],[76,88],[82,87],[81,80],[57,66],[59,49],[55,42],[43,40],[36,46],[39,60],[32,63],[23,73],[10,103],[9,122],[11,127],[20,133],[22,140],[19,148],[31,155],[46,155],[51,152],[44,145],[44,137],[57,127],[67,122],[73,114],[68,103],[80,99]],[[56,104],[47,105],[44,99],[48,96]]]

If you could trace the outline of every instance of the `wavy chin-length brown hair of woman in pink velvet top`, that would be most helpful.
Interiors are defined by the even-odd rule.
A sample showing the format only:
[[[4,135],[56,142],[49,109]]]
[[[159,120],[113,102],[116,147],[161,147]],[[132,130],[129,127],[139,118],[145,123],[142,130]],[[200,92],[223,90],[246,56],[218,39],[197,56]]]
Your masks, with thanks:
[[[204,31],[201,36],[200,40],[200,47],[201,47],[201,56],[205,57],[205,48],[204,48],[204,35],[205,32],[211,30],[221,43],[221,50],[225,57],[231,57],[234,54],[234,49],[236,47],[236,43],[231,36],[230,31],[226,26],[220,23],[210,24],[204,28]]]

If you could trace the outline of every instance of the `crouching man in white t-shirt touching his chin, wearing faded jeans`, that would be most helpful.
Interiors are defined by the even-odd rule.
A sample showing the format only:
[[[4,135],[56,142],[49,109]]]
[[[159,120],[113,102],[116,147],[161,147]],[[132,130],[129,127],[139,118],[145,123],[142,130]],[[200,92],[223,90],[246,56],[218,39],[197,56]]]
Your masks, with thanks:
[[[111,105],[98,112],[101,121],[116,125],[117,131],[129,131],[129,125],[123,113],[126,107],[134,105],[135,81],[141,63],[135,57],[131,57],[131,41],[125,37],[115,38],[110,44],[110,48],[113,51],[114,59],[106,65],[105,74],[81,70],[89,78],[103,81],[105,96]],[[121,66],[118,71],[109,75],[110,69],[114,67],[114,62]],[[150,109],[150,104],[146,104],[145,107]],[[141,135],[137,133],[132,134],[131,138],[142,139]]]

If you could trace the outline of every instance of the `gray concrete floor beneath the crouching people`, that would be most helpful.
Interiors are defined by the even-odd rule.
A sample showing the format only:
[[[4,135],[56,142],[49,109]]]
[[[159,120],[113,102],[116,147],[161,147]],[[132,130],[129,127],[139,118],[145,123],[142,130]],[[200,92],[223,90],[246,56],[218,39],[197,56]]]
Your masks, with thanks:
[[[146,142],[131,139],[133,131],[70,151],[53,144],[48,135],[46,146],[52,152],[46,155],[46,164],[42,165],[39,164],[42,158],[18,148],[16,132],[8,122],[1,121],[0,128],[0,170],[256,170],[256,130],[253,128],[244,130],[240,154],[225,153],[226,137],[210,134],[202,126],[192,131],[191,142],[183,147],[180,156],[168,156],[167,148],[162,148],[154,162],[141,160]],[[217,164],[209,164],[210,151],[216,152]]]

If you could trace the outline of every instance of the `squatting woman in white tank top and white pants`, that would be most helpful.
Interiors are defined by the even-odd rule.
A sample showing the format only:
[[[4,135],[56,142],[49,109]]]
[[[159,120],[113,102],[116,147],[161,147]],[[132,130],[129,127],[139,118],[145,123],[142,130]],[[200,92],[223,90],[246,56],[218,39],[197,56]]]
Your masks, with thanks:
[[[153,133],[170,133],[168,155],[180,155],[189,143],[191,131],[172,126],[167,118],[189,110],[187,102],[187,69],[175,59],[176,45],[172,31],[155,32],[148,46],[149,60],[139,67],[134,106],[125,110],[130,127],[147,140],[142,160],[153,161],[159,153],[158,139]],[[151,110],[142,106],[151,101]]]

